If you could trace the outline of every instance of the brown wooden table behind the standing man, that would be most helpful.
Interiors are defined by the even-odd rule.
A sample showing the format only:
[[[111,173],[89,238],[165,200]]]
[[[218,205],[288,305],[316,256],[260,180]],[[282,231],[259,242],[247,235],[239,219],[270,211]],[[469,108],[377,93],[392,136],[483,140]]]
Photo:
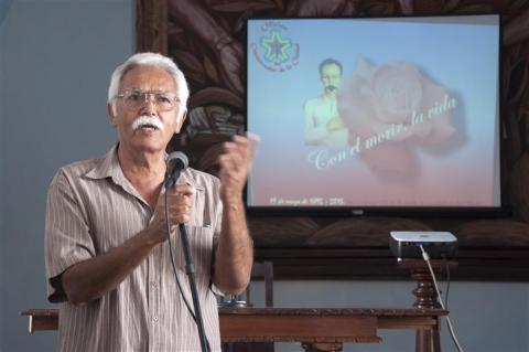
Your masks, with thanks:
[[[58,310],[22,312],[30,332],[56,330]],[[439,331],[447,311],[422,308],[219,308],[224,342],[302,342],[305,351],[342,351],[344,342],[381,342],[379,329]],[[431,352],[432,341],[415,351]],[[436,350],[436,349],[435,349]]]

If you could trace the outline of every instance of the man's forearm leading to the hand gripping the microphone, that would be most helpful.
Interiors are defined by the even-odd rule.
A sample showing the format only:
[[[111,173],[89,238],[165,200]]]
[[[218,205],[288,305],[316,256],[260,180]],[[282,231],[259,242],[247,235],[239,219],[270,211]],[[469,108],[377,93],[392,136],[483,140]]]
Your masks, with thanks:
[[[62,275],[68,301],[88,302],[116,289],[156,244],[145,230],[100,256],[71,266]]]

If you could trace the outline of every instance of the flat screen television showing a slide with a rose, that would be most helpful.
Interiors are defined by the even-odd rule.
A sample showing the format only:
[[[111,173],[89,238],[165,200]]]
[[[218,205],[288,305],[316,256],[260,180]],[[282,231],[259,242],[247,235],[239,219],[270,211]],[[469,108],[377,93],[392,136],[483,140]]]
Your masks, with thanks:
[[[500,210],[498,14],[249,19],[249,210]]]

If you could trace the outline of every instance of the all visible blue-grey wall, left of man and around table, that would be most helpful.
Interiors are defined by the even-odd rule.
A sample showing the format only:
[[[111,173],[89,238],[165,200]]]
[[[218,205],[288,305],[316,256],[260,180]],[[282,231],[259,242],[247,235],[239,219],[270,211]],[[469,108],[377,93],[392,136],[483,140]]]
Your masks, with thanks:
[[[134,1],[0,1],[0,351],[52,351],[56,333],[30,335],[19,316],[51,307],[43,259],[46,190],[58,167],[100,156],[115,141],[106,89],[114,67],[134,50]],[[411,305],[412,287],[278,281],[274,295],[278,307],[402,307]],[[252,292],[262,301],[259,287]],[[528,284],[453,282],[450,296],[466,351],[529,351]],[[345,350],[413,350],[410,332],[381,337],[382,344]],[[442,344],[455,351],[444,327]]]

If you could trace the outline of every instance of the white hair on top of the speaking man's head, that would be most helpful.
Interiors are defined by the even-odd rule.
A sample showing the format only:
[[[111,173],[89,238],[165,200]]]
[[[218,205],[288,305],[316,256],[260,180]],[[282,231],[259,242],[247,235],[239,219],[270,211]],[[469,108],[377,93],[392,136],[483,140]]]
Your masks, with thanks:
[[[174,79],[176,84],[176,95],[180,98],[180,104],[186,110],[187,98],[190,97],[190,88],[185,81],[184,74],[180,71],[179,66],[170,57],[163,56],[156,53],[138,53],[130,56],[125,63],[116,67],[110,78],[110,85],[108,86],[108,99],[107,103],[112,107],[112,111],[116,115],[116,96],[119,92],[119,86],[125,75],[132,68],[138,66],[153,66],[165,70]]]

